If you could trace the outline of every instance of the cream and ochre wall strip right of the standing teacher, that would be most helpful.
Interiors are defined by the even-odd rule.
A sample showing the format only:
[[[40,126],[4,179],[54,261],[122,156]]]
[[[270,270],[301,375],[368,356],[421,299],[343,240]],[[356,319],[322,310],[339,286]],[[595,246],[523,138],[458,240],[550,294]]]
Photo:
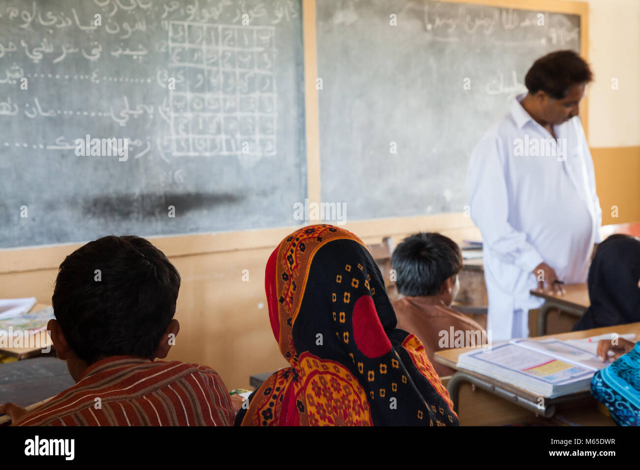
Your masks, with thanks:
[[[589,0],[589,145],[602,223],[640,220],[640,1]],[[618,90],[612,89],[618,79]],[[612,217],[613,206],[618,217]]]

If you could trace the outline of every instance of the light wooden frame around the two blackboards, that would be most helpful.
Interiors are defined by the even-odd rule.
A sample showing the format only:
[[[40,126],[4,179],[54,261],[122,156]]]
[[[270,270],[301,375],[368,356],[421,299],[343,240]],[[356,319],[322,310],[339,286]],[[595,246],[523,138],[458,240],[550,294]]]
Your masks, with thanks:
[[[482,4],[513,10],[541,10],[554,13],[568,13],[580,16],[580,55],[589,59],[589,5],[581,1],[568,0],[518,0],[514,6],[509,0],[441,0],[452,3]],[[317,42],[316,42],[316,0],[302,0],[303,16],[303,52],[305,68],[305,130],[307,141],[307,197],[310,202],[320,201],[320,151],[319,151],[319,115],[317,78]],[[582,104],[582,127],[589,136],[588,96]],[[479,237],[470,217],[462,212],[450,214],[422,215],[417,217],[396,217],[356,221],[344,226],[367,241],[383,236],[412,233],[420,230],[447,231],[459,237]],[[287,233],[296,226],[268,228],[260,230],[241,230],[217,233],[197,233],[191,235],[173,235],[148,237],[170,258],[194,256],[226,251],[242,251],[275,247]],[[379,240],[378,240],[379,241]],[[0,274],[28,272],[42,269],[57,269],[69,253],[82,246],[82,243],[56,244],[36,247],[0,249]]]

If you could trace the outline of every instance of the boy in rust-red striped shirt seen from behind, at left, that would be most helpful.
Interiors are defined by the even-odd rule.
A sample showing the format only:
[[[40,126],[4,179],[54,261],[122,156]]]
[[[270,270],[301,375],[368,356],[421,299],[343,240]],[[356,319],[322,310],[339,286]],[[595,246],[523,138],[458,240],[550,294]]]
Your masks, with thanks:
[[[76,385],[32,411],[6,403],[16,426],[230,425],[218,373],[167,356],[180,275],[140,237],[113,235],[61,263],[47,329]]]

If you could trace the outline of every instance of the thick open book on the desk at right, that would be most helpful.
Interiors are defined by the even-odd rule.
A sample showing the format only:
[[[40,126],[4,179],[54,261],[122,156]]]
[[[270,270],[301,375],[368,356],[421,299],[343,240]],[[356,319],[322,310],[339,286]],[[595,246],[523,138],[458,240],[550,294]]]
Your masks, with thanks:
[[[611,334],[602,336],[611,338]],[[629,337],[627,339],[635,336],[621,335]],[[554,398],[589,390],[593,374],[608,365],[595,354],[599,339],[604,338],[511,340],[488,351],[478,349],[460,354],[457,367],[512,384],[538,396]]]

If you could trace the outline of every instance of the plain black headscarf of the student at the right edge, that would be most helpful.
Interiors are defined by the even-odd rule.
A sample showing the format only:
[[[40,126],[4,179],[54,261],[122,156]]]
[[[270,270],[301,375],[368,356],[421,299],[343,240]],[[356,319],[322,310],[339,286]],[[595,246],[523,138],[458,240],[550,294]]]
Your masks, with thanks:
[[[573,331],[640,322],[640,240],[615,234],[598,246],[589,268],[591,306]]]

